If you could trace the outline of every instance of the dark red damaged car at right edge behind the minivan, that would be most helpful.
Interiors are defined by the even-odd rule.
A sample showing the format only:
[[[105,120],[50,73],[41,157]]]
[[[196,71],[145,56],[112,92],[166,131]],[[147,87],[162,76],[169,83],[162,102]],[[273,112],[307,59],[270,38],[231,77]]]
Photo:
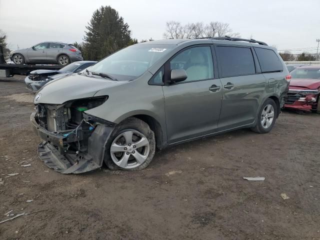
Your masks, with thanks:
[[[301,66],[290,74],[291,80],[284,107],[320,113],[320,65]]]

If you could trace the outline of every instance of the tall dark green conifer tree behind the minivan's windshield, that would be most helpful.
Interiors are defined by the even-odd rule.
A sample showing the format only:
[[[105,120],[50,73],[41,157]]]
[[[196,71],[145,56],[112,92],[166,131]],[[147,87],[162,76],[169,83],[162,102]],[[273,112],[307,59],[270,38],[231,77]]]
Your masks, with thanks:
[[[134,44],[129,25],[110,6],[101,6],[93,12],[83,38],[85,59],[99,60],[127,45]]]

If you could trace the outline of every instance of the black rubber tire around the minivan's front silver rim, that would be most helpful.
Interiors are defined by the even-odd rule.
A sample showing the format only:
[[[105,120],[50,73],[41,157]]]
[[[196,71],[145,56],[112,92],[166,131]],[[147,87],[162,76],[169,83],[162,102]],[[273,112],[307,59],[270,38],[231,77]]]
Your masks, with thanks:
[[[119,134],[121,134],[122,132],[125,132],[127,130],[134,130],[134,131],[138,131],[138,132],[142,133],[147,138],[147,140],[149,142],[149,153],[147,155],[147,158],[145,159],[145,161],[141,165],[133,167],[133,168],[122,168],[122,167],[116,165],[113,162],[112,157],[111,157],[111,153],[110,153],[110,147],[111,147],[113,140]],[[121,169],[121,170],[127,170],[127,171],[137,171],[137,170],[141,170],[141,169],[145,168],[151,162],[151,160],[154,156],[154,152],[155,152],[154,132],[150,129],[149,125],[136,117],[128,117],[127,119],[125,119],[124,121],[119,123],[114,128],[109,139],[107,140],[106,145],[105,145],[105,152],[104,152],[103,161],[106,164],[106,166],[108,168],[110,168],[111,170]]]

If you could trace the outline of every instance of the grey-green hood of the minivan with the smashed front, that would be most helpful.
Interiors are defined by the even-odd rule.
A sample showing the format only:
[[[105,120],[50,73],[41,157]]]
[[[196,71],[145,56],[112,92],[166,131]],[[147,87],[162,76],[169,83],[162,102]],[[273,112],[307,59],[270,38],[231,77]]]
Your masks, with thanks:
[[[113,81],[73,73],[49,81],[36,93],[33,102],[34,104],[61,104],[68,100],[92,97],[98,90],[125,83],[126,81]]]

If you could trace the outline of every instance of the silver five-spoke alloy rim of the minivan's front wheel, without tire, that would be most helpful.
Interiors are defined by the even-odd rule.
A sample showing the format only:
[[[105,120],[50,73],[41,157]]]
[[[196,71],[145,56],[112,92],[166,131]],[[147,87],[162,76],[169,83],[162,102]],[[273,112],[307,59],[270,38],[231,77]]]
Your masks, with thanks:
[[[112,161],[121,168],[141,165],[149,155],[148,139],[135,130],[127,130],[114,138],[110,146]]]

